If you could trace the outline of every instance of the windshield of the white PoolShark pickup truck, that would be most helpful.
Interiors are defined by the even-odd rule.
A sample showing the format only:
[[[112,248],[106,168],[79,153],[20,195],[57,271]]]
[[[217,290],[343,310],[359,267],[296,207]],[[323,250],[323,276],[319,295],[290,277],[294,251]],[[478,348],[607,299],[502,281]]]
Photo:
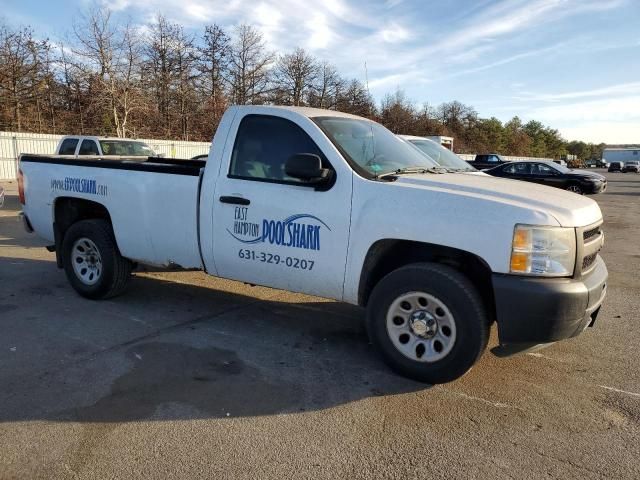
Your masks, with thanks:
[[[378,123],[341,117],[313,120],[348,161],[370,175],[382,175],[404,168],[438,167],[431,158],[407,145]]]

